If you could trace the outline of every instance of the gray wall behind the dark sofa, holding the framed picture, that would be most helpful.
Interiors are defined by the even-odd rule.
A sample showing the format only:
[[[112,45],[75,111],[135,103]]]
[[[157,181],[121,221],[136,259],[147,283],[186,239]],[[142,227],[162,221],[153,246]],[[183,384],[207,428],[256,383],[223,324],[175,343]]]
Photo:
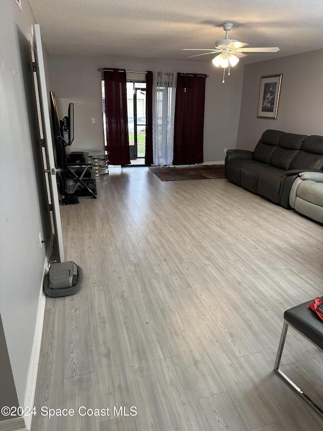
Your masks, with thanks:
[[[323,135],[323,50],[245,66],[237,148],[253,150],[266,129]],[[277,120],[257,118],[261,76],[283,74]]]

